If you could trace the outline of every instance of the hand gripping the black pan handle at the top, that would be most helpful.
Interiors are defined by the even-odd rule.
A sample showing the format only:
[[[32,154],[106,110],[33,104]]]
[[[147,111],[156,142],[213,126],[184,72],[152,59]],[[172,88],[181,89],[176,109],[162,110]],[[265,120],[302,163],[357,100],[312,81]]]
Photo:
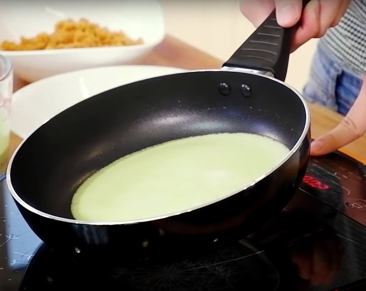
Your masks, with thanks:
[[[311,38],[324,36],[336,26],[351,0],[311,0],[302,11],[302,0],[241,0],[240,10],[255,27],[258,27],[276,8],[279,25],[291,27],[301,20],[295,32],[291,52]]]

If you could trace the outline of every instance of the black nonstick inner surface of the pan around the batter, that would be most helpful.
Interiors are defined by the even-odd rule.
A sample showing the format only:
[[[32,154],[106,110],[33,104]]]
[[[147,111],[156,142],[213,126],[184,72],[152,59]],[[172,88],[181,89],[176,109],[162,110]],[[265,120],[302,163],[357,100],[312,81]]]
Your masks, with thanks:
[[[223,82],[230,94],[219,90]],[[243,87],[250,87],[251,96],[243,96]],[[49,120],[18,149],[10,180],[29,206],[73,219],[76,189],[129,153],[173,139],[236,132],[265,135],[292,149],[306,126],[299,96],[260,75],[202,71],[157,77],[98,94]]]

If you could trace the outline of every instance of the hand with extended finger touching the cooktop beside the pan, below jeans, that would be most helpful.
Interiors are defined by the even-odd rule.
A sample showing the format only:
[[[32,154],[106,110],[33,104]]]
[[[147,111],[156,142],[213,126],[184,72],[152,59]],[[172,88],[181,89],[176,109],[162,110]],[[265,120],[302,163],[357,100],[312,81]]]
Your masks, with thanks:
[[[360,93],[341,123],[311,143],[310,154],[321,156],[355,141],[366,132],[366,77]]]

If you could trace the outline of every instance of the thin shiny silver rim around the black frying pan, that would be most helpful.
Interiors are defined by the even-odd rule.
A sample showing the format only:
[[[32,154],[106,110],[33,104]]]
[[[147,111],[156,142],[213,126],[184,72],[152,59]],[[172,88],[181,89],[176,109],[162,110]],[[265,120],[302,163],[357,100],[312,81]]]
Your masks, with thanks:
[[[295,145],[292,147],[292,149],[290,149],[290,152],[278,163],[276,164],[275,167],[272,167],[271,169],[269,169],[269,171],[267,171],[265,174],[263,174],[262,176],[258,177],[257,179],[255,179],[252,183],[245,185],[244,187],[241,187],[240,189],[236,190],[236,191],[232,191],[231,193],[220,197],[218,199],[215,199],[211,202],[207,202],[205,204],[200,204],[197,205],[195,207],[189,208],[189,209],[184,209],[181,210],[179,212],[174,212],[174,213],[170,213],[170,214],[164,214],[161,216],[156,216],[156,217],[151,217],[151,218],[145,218],[145,219],[136,219],[136,220],[129,220],[129,221],[89,221],[89,220],[77,220],[77,219],[70,219],[70,218],[65,218],[65,217],[60,217],[60,216],[55,216],[52,214],[48,214],[46,212],[43,212],[41,210],[38,210],[37,208],[34,208],[33,206],[30,206],[29,204],[27,204],[22,198],[20,198],[20,196],[16,193],[13,185],[12,185],[12,181],[11,181],[11,167],[12,167],[12,163],[14,161],[14,158],[16,156],[16,154],[18,153],[19,149],[22,147],[23,143],[25,143],[27,141],[27,139],[29,137],[31,137],[31,135],[33,135],[33,133],[35,131],[38,130],[38,128],[36,128],[36,130],[33,131],[33,133],[31,133],[30,135],[28,135],[28,137],[26,137],[25,139],[23,139],[23,141],[18,145],[18,147],[15,149],[14,153],[12,154],[8,166],[7,166],[7,171],[6,171],[6,182],[7,182],[7,186],[8,189],[10,191],[10,194],[12,195],[12,197],[15,199],[15,201],[17,201],[23,208],[29,210],[30,212],[33,212],[39,216],[43,216],[45,218],[48,219],[52,219],[52,220],[57,220],[57,221],[62,221],[62,222],[66,222],[66,223],[71,223],[71,224],[83,224],[83,225],[131,225],[131,224],[138,224],[138,223],[144,223],[144,222],[148,222],[148,221],[155,221],[155,220],[161,220],[161,219],[165,219],[168,217],[172,217],[172,216],[177,216],[179,214],[183,214],[183,213],[188,213],[203,207],[206,207],[208,205],[214,204],[216,202],[219,202],[221,200],[227,199],[228,197],[231,197],[232,195],[235,195],[243,190],[246,190],[252,186],[254,186],[255,184],[257,184],[259,181],[261,181],[262,179],[264,179],[265,177],[269,176],[270,174],[272,174],[273,172],[275,172],[278,168],[281,167],[281,165],[283,165],[284,163],[286,163],[290,157],[293,156],[293,154],[299,149],[300,145],[302,144],[302,142],[304,141],[304,139],[307,136],[307,133],[309,132],[310,129],[310,108],[309,105],[307,104],[307,101],[305,100],[305,98],[298,92],[298,90],[296,90],[294,87],[288,85],[287,83],[280,81],[276,78],[264,75],[264,74],[258,74],[255,72],[238,72],[238,71],[229,71],[229,70],[222,70],[222,69],[209,69],[209,70],[190,70],[187,72],[179,72],[179,73],[174,73],[173,75],[179,75],[179,74],[189,74],[189,73],[194,73],[194,72],[228,72],[228,73],[232,73],[232,74],[250,74],[250,75],[257,75],[259,77],[262,78],[267,78],[270,79],[274,82],[280,83],[281,85],[287,87],[288,89],[290,89],[293,93],[295,93],[297,95],[297,97],[299,98],[299,100],[302,102],[303,104],[303,108],[305,110],[305,126],[303,128],[302,134],[300,135],[300,138],[298,139],[298,141],[295,143]],[[160,76],[160,77],[156,77],[156,78],[161,78],[164,76]],[[137,82],[143,82],[142,81],[137,81]],[[93,97],[93,96],[91,96]],[[80,101],[82,102],[82,101]],[[67,110],[67,109],[65,109]],[[57,116],[57,115],[56,115]],[[55,117],[55,116],[54,116]],[[48,122],[48,121],[47,121]],[[46,123],[46,122],[45,122]],[[45,124],[44,123],[44,124]]]

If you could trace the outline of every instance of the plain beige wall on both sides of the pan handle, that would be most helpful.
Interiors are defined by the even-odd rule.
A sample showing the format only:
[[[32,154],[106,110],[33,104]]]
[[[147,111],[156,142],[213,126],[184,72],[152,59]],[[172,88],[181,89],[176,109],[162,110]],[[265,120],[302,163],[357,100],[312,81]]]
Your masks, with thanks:
[[[238,0],[160,0],[167,33],[202,51],[227,60],[253,33],[254,26],[241,14]],[[302,91],[317,40],[291,54],[286,82]]]

